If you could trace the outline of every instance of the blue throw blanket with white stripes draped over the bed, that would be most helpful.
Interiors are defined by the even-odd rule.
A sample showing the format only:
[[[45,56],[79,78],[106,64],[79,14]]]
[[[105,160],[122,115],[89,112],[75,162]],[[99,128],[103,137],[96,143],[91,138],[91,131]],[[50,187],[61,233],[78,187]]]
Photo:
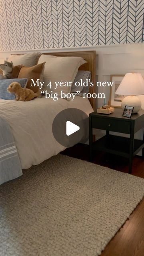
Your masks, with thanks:
[[[8,122],[0,117],[0,184],[22,175],[18,151]]]

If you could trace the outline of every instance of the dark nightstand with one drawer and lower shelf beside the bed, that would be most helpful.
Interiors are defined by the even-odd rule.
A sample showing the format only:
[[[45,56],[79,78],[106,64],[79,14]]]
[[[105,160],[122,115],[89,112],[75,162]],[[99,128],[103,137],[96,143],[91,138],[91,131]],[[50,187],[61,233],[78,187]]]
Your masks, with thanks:
[[[99,114],[92,112],[89,115],[89,144],[90,161],[94,150],[100,150],[129,159],[129,173],[132,172],[132,159],[141,150],[144,157],[144,136],[143,140],[134,139],[134,134],[144,127],[144,110],[133,114],[131,118],[122,116],[121,108],[115,108],[112,114]],[[106,130],[106,135],[93,142],[93,128]],[[120,132],[129,134],[129,138],[111,135],[109,132]]]

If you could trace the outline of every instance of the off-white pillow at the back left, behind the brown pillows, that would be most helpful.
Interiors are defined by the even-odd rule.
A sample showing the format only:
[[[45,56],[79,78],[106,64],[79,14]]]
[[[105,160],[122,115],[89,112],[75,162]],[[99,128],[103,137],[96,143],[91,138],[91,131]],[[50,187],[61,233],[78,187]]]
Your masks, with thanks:
[[[24,65],[26,67],[32,67],[38,64],[38,59],[40,58],[40,55],[42,55],[40,52],[33,52],[20,55],[12,54],[9,56],[8,61],[12,61],[14,66]]]

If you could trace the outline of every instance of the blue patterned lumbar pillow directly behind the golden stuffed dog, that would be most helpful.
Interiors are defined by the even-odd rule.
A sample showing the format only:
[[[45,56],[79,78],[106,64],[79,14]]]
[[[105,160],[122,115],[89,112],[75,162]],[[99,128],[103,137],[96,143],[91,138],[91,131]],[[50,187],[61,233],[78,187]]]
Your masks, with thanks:
[[[15,94],[7,91],[8,86],[13,82],[18,82],[22,88],[26,88],[27,80],[27,78],[0,79],[0,99],[15,100]]]

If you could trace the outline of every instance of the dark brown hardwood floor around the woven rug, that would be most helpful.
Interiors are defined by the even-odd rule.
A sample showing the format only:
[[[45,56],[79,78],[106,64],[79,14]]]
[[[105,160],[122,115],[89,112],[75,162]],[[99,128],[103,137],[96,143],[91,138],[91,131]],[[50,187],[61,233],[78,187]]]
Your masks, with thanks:
[[[64,150],[62,154],[88,161],[89,147],[77,144]],[[95,152],[93,163],[128,172],[128,159],[120,156]],[[144,178],[144,159],[141,157],[134,158],[132,175]],[[108,243],[101,256],[144,256],[144,198]]]

